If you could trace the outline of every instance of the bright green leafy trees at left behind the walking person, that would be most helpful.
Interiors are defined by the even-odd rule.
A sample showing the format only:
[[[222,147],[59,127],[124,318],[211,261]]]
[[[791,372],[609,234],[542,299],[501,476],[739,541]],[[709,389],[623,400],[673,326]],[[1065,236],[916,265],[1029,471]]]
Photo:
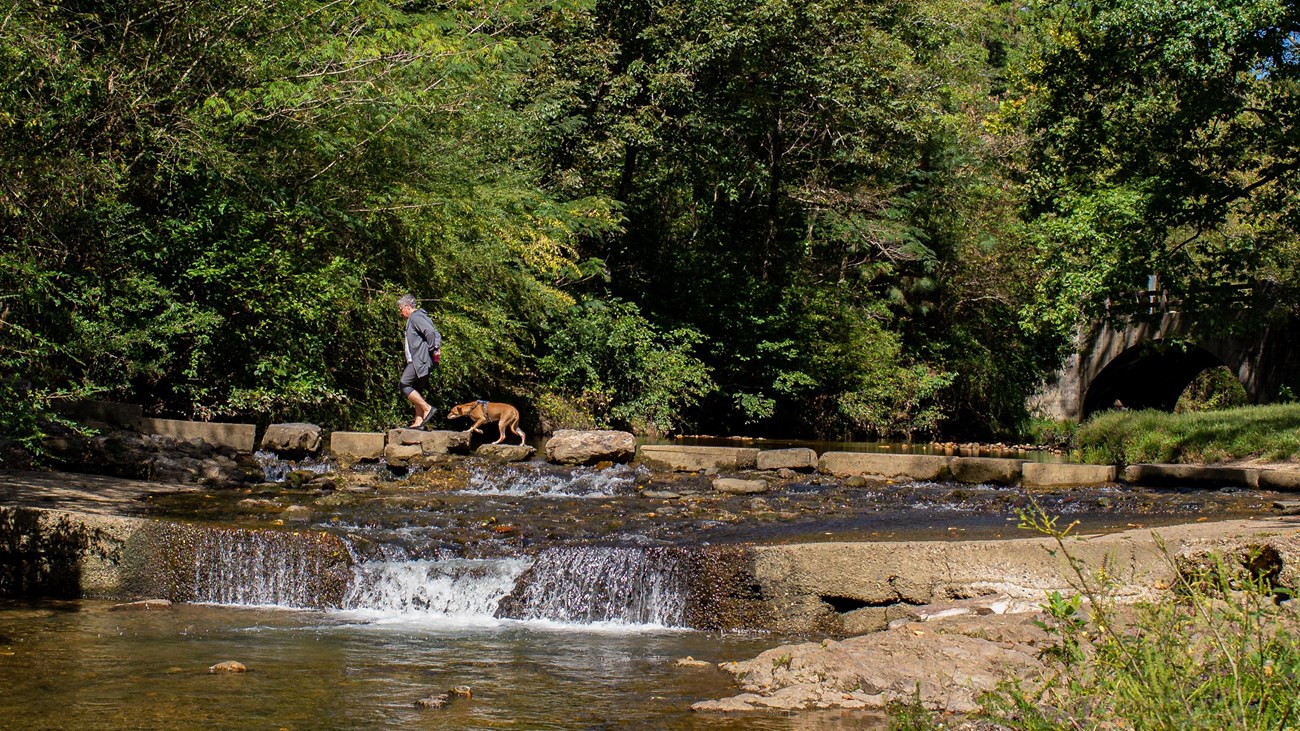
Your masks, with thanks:
[[[6,419],[393,418],[425,298],[448,393],[508,388],[599,199],[528,164],[528,3],[18,0],[0,25]],[[30,432],[30,428],[29,428]]]

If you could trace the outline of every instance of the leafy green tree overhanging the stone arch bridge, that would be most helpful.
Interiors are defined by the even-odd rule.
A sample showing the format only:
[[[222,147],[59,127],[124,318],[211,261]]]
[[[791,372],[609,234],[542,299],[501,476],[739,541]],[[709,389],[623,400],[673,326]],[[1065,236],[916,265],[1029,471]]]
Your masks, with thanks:
[[[1005,114],[1032,140],[1035,324],[1069,333],[1154,276],[1212,332],[1296,310],[1300,8],[1286,0],[1032,5]],[[1243,310],[1243,299],[1252,304]],[[1108,307],[1109,306],[1109,307]]]

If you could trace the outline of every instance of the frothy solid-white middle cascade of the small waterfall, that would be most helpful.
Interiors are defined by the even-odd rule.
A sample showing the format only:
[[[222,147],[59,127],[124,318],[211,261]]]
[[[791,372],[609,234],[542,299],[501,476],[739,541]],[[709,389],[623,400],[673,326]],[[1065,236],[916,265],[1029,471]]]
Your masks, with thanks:
[[[358,563],[343,607],[490,619],[528,565],[524,558]]]

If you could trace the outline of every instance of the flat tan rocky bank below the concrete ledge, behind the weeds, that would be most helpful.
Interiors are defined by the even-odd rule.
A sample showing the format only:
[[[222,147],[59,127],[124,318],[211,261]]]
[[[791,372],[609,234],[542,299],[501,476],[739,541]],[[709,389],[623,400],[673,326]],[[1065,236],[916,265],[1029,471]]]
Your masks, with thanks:
[[[1119,604],[1110,611],[1122,624],[1132,620],[1134,602],[1179,601],[1170,589],[1179,574],[1196,581],[1208,566],[1222,559],[1236,578],[1235,585],[1271,587],[1275,593],[1264,601],[1282,600],[1277,619],[1292,631],[1300,628],[1300,602],[1287,598],[1295,596],[1300,580],[1300,529],[1295,524],[1234,525],[1210,532],[1178,527],[1165,529],[1162,538],[1167,540],[1167,553],[1157,550],[1156,565],[1130,574],[1115,587]],[[1084,558],[1086,571],[1101,568],[1100,554],[1083,544],[1067,540],[1067,549]],[[1114,566],[1114,555],[1104,554],[1108,566]],[[875,632],[785,644],[750,659],[724,661],[716,667],[733,675],[742,692],[697,702],[693,709],[884,709],[919,702],[930,710],[970,714],[980,710],[983,695],[1004,682],[1035,688],[1060,670],[1045,659],[1049,656],[1044,650],[1061,639],[1044,628],[1052,620],[1043,611],[1043,601],[1020,592],[1019,597],[997,593],[904,607],[901,615]]]

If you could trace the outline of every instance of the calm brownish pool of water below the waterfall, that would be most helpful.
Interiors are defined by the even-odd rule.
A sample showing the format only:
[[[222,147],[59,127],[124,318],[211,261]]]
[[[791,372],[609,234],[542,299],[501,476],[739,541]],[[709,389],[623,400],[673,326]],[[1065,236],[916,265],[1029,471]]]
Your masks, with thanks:
[[[103,602],[0,602],[0,727],[228,730],[837,730],[876,717],[706,715],[738,692],[714,669],[774,637],[684,631],[358,619],[347,613]],[[209,675],[226,659],[242,675]],[[446,709],[417,698],[469,685]]]

